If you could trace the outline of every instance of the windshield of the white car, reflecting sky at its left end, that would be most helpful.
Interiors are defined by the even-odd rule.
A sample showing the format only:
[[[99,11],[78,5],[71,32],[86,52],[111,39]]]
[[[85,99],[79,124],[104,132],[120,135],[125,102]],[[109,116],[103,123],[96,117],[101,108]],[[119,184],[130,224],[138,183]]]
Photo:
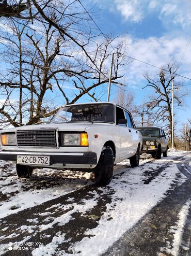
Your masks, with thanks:
[[[106,122],[114,123],[113,104],[83,104],[60,108],[51,123]]]

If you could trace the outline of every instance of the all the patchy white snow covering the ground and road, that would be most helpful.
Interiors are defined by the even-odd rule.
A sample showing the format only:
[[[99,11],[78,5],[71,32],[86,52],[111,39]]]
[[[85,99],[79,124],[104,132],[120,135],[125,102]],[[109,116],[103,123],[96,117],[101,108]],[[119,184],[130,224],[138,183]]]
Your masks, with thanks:
[[[184,151],[170,150],[169,157],[161,160],[153,160],[148,155],[142,155],[140,165],[131,168],[129,160],[123,161],[116,165],[112,182],[105,188],[99,188],[99,191],[108,193],[113,190],[111,202],[106,204],[106,210],[102,216],[99,216],[98,225],[94,229],[85,231],[86,237],[81,241],[72,244],[70,251],[73,255],[99,255],[105,252],[109,246],[118,240],[124,232],[131,229],[142,217],[144,217],[158,202],[166,197],[166,192],[180,186],[187,178],[179,171],[176,164],[180,163],[181,157],[186,155]],[[187,155],[189,160],[191,155]],[[70,193],[71,191],[81,189],[89,181],[89,174],[81,172],[62,172],[52,169],[36,169],[34,177],[30,180],[18,179],[15,175],[15,168],[4,161],[0,161],[1,177],[0,177],[0,193],[2,199],[0,202],[1,218],[23,209],[41,204],[53,198]],[[41,216],[46,216],[47,224],[39,223],[38,216],[35,219],[28,219],[28,225],[21,226],[19,229],[30,230],[30,235],[35,236],[37,233],[43,234],[54,224],[65,226],[72,220],[75,212],[86,216],[86,212],[90,211],[98,204],[99,194],[97,191],[93,193],[93,197],[83,199],[83,204],[77,204],[74,198],[69,198],[70,205],[57,204],[46,211],[41,212]],[[30,200],[28,200],[30,198]],[[185,207],[188,207],[188,203]],[[53,217],[54,212],[50,212],[55,208],[61,214]],[[180,222],[182,225],[186,209],[180,212]],[[38,227],[38,229],[37,229]],[[65,230],[63,228],[63,230]],[[115,232],[114,232],[115,230]],[[178,234],[181,237],[180,233]],[[110,234],[113,234],[111,236]],[[30,236],[29,236],[30,237]],[[180,240],[174,234],[174,248],[179,246]],[[3,239],[4,237],[0,237]],[[28,239],[28,238],[27,238]],[[26,239],[24,239],[26,240]],[[17,247],[17,243],[15,246]],[[67,242],[65,233],[57,232],[51,243],[40,246],[35,249],[32,254],[35,255],[52,255],[60,244]],[[99,246],[98,246],[99,245]],[[8,245],[3,245],[4,251],[8,250]],[[14,245],[12,245],[14,248]],[[52,248],[52,250],[50,250]],[[56,255],[71,255],[65,251],[57,251]]]

